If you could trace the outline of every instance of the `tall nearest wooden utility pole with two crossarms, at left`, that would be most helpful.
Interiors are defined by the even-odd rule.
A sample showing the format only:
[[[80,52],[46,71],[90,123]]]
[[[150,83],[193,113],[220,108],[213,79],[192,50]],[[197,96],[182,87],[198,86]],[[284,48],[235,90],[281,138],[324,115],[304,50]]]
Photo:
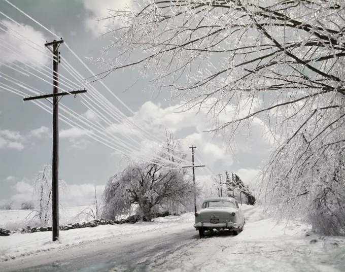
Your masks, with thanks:
[[[60,52],[58,51],[60,45],[63,43],[61,38],[60,41],[54,40],[51,43],[46,43],[45,46],[53,53],[53,93],[44,94],[37,96],[24,97],[24,101],[36,100],[42,98],[53,97],[53,162],[52,162],[52,220],[53,220],[53,241],[59,239],[59,123],[58,123],[58,109],[59,101],[62,96],[67,94],[74,94],[75,97],[78,93],[84,93],[86,90],[77,90],[70,92],[58,92],[58,64],[60,63]],[[53,47],[51,49],[50,47]],[[61,96],[60,98],[58,98]]]

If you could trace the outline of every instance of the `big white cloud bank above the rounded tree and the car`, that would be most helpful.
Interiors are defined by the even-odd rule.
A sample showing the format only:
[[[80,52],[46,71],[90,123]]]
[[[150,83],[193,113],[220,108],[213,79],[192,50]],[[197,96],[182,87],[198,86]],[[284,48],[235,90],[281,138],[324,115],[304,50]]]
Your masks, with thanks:
[[[259,118],[252,120],[250,128],[244,127],[238,135],[235,135],[230,150],[226,142],[229,135],[228,130],[225,130],[224,134],[204,132],[211,130],[214,125],[214,120],[210,120],[208,115],[207,107],[201,107],[199,110],[181,111],[184,110],[182,105],[181,103],[164,108],[152,101],[147,101],[139,111],[129,117],[130,122],[134,123],[135,126],[130,125],[128,122],[112,124],[108,126],[108,132],[120,139],[126,138],[128,148],[139,149],[140,151],[126,152],[128,156],[133,157],[141,155],[152,157],[154,153],[152,146],[156,145],[157,138],[161,141],[166,138],[163,127],[173,133],[175,138],[181,140],[182,150],[188,156],[191,154],[191,145],[197,146],[196,158],[202,164],[211,167],[224,166],[226,168],[233,165],[234,154],[240,152],[262,156],[267,154],[270,139],[267,134],[264,134],[267,127]],[[227,106],[225,111],[218,115],[216,121],[228,122],[233,117],[233,110],[234,108],[231,105]],[[249,109],[244,106],[239,116],[246,115],[248,111]],[[148,131],[151,136],[143,133],[141,129]],[[133,140],[128,140],[129,137]],[[148,137],[151,140],[142,140]],[[113,155],[115,154],[118,154],[118,152],[113,153]],[[248,165],[245,166],[248,167]]]

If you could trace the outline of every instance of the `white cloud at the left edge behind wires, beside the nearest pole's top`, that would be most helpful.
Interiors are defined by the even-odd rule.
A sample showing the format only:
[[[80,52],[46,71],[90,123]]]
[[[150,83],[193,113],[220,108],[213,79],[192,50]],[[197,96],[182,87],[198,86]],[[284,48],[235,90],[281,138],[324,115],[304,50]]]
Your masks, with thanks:
[[[46,40],[42,32],[29,25],[18,25],[9,20],[0,21],[0,25],[4,27],[2,24],[7,28],[7,32],[0,33],[0,40],[5,41],[2,42],[3,46],[0,46],[0,62],[9,64],[22,61],[36,67],[48,64],[49,58],[45,52],[47,49],[38,46]]]

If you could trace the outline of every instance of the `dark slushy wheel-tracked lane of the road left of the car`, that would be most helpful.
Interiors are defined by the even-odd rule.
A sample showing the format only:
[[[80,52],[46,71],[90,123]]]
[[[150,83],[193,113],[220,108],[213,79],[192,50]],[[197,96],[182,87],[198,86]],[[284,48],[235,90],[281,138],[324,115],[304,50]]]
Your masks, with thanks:
[[[229,232],[209,234],[230,235]],[[207,236],[206,236],[207,237]],[[202,243],[191,224],[144,234],[115,236],[68,249],[56,249],[0,263],[0,271],[144,271],[155,261],[175,251],[184,251]]]

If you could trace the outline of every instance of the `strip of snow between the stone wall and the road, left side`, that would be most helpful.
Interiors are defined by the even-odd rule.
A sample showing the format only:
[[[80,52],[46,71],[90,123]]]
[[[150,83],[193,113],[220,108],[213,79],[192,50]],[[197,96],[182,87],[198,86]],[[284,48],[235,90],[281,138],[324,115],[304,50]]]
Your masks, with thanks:
[[[52,242],[52,232],[14,233],[10,236],[0,236],[0,262],[15,259],[33,253],[50,251],[57,248],[70,248],[79,244],[99,241],[101,239],[124,234],[137,234],[147,231],[166,229],[178,224],[192,225],[194,214],[186,213],[181,216],[169,216],[162,223],[138,222],[135,224],[100,225],[94,228],[80,228],[60,231],[60,241]]]

